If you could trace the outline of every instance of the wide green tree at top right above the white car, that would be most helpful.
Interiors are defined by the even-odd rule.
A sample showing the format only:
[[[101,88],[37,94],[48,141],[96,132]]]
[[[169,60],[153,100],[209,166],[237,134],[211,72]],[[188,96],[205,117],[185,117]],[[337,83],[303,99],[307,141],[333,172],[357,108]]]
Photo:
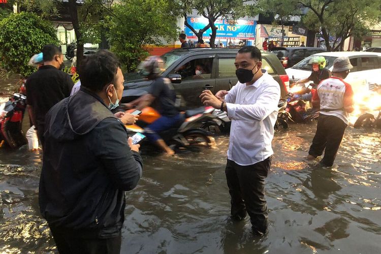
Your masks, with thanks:
[[[364,36],[381,17],[381,0],[296,0],[295,4],[309,9],[302,21],[321,31],[328,51],[342,50],[351,36]]]

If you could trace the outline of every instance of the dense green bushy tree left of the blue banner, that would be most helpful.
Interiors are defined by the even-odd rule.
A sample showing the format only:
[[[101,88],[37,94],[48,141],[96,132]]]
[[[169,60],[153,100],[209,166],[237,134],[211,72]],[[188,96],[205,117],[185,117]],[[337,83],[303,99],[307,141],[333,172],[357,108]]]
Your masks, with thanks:
[[[106,20],[107,37],[122,63],[123,71],[134,71],[148,55],[145,45],[163,45],[178,36],[177,19],[169,0],[122,0]]]

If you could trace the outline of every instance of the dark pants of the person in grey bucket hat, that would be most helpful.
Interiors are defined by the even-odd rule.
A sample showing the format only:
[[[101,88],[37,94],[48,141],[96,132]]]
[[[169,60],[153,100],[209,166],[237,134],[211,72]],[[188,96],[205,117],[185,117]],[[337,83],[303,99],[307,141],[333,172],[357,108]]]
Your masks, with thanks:
[[[317,120],[316,134],[308,153],[317,157],[322,155],[325,149],[324,157],[320,163],[326,167],[331,167],[335,161],[346,126],[347,124],[336,116],[320,114]]]

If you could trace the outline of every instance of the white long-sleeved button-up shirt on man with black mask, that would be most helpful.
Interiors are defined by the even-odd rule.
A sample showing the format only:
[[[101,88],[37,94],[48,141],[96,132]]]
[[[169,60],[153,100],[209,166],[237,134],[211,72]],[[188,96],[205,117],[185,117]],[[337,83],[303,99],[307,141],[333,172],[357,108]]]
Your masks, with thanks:
[[[225,96],[232,120],[228,159],[247,166],[273,154],[271,141],[278,116],[280,88],[265,70],[252,85],[238,82]]]

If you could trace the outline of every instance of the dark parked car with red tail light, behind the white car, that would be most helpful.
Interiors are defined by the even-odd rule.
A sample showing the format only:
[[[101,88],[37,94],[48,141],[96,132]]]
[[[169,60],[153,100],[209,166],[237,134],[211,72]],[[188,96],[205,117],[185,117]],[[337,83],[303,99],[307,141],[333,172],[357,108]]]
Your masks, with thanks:
[[[276,47],[271,52],[276,54],[284,68],[293,67],[304,58],[327,51],[324,48],[310,47]]]

